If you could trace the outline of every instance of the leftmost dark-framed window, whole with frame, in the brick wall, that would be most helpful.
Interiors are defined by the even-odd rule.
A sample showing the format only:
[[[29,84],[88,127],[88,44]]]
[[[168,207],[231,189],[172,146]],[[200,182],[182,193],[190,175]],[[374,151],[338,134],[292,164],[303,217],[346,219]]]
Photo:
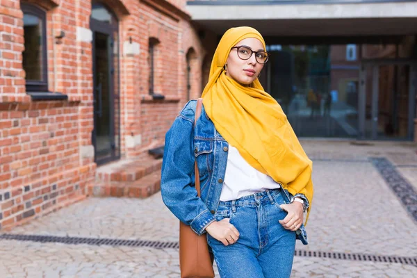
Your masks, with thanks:
[[[48,91],[46,13],[36,6],[22,3],[27,92]]]

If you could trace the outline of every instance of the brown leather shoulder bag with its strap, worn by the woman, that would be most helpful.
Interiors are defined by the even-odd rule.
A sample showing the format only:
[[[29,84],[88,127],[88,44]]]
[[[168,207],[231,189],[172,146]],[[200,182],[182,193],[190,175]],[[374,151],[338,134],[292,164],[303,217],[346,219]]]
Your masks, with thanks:
[[[203,99],[197,99],[194,126],[202,113]],[[195,167],[195,189],[200,196],[197,160]],[[198,236],[190,226],[179,222],[179,268],[181,278],[213,278],[213,257],[208,252],[206,234]]]

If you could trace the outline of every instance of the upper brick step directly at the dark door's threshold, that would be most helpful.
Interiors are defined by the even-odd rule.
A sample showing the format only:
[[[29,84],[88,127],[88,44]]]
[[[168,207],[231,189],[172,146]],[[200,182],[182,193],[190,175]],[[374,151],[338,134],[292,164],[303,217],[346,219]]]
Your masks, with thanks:
[[[116,161],[97,168],[96,181],[138,181],[156,170],[161,170],[162,159],[146,158],[140,160]]]

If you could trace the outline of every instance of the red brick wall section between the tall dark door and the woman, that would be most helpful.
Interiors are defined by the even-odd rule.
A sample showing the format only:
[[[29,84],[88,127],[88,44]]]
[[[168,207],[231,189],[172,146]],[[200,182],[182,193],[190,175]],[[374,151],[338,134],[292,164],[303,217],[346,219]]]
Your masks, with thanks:
[[[168,1],[177,7],[184,7],[186,1]],[[167,8],[167,2],[149,1],[131,2],[131,10],[138,15],[126,23],[131,29],[132,39],[140,44],[140,56],[129,66],[129,75],[136,82],[126,90],[129,108],[132,113],[126,122],[127,136],[141,136],[141,144],[127,148],[126,156],[139,156],[149,148],[163,145],[165,132],[174,117],[187,101],[186,53],[194,49],[191,98],[201,93],[201,60],[205,54],[197,31],[191,26],[184,11],[174,13],[175,8],[168,7],[170,13],[161,13]],[[149,38],[158,40],[154,51],[154,92],[165,96],[165,100],[152,100],[149,96]]]

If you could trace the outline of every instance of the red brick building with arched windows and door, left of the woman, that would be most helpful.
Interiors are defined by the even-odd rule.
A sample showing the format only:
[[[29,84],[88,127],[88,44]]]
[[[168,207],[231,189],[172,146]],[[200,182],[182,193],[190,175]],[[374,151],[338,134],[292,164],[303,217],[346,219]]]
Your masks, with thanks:
[[[211,44],[185,6],[1,1],[0,228],[83,199],[88,188],[126,193],[106,181],[157,183],[158,172],[150,176],[161,160],[148,151],[163,145],[179,108],[202,90],[203,45]],[[128,170],[97,171],[111,161]]]

